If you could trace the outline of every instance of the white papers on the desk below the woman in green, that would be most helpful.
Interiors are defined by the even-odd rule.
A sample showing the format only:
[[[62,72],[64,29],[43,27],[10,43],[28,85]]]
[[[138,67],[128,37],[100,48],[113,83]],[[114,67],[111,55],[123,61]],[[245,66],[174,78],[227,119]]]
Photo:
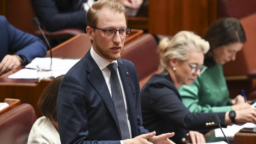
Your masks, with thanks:
[[[222,128],[223,132],[225,133],[226,137],[228,138],[228,140],[234,140],[235,134],[242,128],[244,127],[251,127],[254,128],[256,127],[255,124],[253,123],[246,123],[242,126],[238,126],[236,124],[233,124],[232,126],[227,126],[227,128]],[[221,129],[215,129],[215,137],[222,137],[224,138],[223,133],[221,132]]]

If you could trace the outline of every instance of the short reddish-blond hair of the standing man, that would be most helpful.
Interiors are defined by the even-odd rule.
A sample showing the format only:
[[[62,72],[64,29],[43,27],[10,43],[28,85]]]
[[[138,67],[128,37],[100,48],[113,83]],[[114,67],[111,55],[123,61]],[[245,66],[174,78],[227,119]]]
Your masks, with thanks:
[[[98,12],[103,8],[108,7],[110,10],[114,12],[120,12],[124,14],[126,25],[127,25],[127,16],[125,7],[122,4],[121,0],[98,0],[93,4],[91,8],[87,11],[87,26],[96,26],[98,23]]]

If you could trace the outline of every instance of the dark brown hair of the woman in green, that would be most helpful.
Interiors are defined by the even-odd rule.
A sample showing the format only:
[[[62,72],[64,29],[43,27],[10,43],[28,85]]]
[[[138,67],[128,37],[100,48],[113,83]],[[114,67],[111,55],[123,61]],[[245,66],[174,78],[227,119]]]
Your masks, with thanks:
[[[208,66],[208,68],[216,64],[213,58],[213,50],[215,48],[246,41],[243,26],[236,18],[221,18],[217,20],[207,30],[204,39],[210,43],[210,50],[204,57],[204,65]]]

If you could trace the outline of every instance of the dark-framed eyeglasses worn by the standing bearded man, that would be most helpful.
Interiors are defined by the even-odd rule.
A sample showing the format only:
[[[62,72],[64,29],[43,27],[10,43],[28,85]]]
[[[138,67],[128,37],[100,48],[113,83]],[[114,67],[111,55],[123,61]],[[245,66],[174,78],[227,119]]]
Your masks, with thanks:
[[[115,36],[115,34],[117,33],[117,31],[119,32],[119,35],[121,38],[126,38],[129,36],[129,34],[132,30],[130,28],[125,28],[125,29],[121,29],[121,30],[101,29],[101,28],[97,28],[96,26],[93,26],[93,28],[104,31],[104,37],[106,37],[106,38],[113,38]]]

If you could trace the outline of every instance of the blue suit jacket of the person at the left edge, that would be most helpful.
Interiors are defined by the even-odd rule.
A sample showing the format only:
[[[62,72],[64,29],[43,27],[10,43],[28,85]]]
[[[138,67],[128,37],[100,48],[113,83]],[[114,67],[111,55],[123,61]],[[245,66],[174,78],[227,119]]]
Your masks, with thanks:
[[[24,55],[26,63],[35,57],[45,57],[47,48],[43,41],[34,35],[18,30],[0,16],[0,62],[7,54]]]

